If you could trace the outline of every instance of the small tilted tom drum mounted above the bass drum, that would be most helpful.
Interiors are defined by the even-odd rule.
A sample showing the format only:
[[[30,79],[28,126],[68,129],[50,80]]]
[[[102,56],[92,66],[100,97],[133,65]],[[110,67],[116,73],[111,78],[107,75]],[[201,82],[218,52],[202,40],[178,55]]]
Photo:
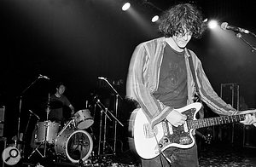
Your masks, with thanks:
[[[84,109],[79,110],[79,112],[74,114],[74,122],[78,129],[84,130],[89,128],[94,123],[94,120],[90,116],[90,111],[88,109]]]

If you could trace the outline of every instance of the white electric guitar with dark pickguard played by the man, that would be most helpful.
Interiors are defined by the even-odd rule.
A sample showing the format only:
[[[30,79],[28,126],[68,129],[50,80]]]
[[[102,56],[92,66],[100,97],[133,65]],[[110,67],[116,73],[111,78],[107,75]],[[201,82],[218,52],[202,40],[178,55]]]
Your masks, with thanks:
[[[131,113],[130,127],[134,138],[137,154],[141,158],[150,159],[158,156],[168,147],[189,148],[195,145],[192,130],[218,124],[230,124],[245,119],[245,114],[196,119],[195,115],[201,109],[201,103],[195,102],[186,107],[176,109],[187,116],[187,121],[181,126],[172,126],[167,120],[151,128],[143,109],[137,108]],[[254,110],[247,113],[253,113]]]

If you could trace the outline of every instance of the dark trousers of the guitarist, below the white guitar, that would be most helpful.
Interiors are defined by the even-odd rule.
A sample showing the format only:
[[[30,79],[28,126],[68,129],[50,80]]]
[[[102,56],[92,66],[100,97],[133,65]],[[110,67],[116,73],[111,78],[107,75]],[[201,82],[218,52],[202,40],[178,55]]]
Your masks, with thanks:
[[[164,154],[172,163],[169,163],[162,155],[153,159],[142,159],[143,167],[198,167],[198,156],[196,144],[187,149],[167,148]],[[160,158],[161,157],[161,158]]]

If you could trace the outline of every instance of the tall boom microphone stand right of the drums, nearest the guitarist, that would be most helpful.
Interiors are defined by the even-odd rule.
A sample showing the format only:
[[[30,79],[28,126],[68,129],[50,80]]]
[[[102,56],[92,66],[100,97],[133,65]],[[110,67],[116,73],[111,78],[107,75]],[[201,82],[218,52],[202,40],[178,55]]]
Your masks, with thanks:
[[[108,83],[108,85],[111,87],[111,89],[113,89],[114,93],[115,93],[115,106],[114,106],[114,112],[115,112],[115,116],[117,117],[118,115],[118,109],[119,109],[119,98],[121,100],[123,100],[122,96],[119,95],[119,93],[117,92],[116,89],[113,88],[112,84],[108,82],[108,78],[102,78],[100,77],[99,79],[102,79],[104,81],[106,81]],[[111,113],[111,112],[110,112]],[[124,124],[121,124],[119,122],[119,120],[113,116],[113,114],[111,113],[112,117],[115,119],[114,121],[114,134],[113,134],[113,155],[115,155],[116,153],[116,135],[117,135],[117,122],[124,127]]]

